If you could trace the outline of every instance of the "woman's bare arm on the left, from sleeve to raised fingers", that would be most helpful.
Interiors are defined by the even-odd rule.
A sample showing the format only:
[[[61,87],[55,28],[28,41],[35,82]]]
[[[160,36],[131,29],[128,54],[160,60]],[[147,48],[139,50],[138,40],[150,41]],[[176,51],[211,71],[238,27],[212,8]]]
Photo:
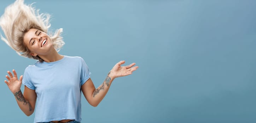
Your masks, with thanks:
[[[21,92],[21,84],[22,84],[22,77],[17,78],[17,73],[15,70],[13,71],[13,75],[10,71],[7,71],[9,76],[6,76],[8,82],[5,80],[5,83],[8,85],[8,88],[13,93],[19,108],[27,115],[30,116],[33,114],[35,109],[36,103],[36,93],[35,90],[29,89],[27,86],[24,88],[24,95]]]

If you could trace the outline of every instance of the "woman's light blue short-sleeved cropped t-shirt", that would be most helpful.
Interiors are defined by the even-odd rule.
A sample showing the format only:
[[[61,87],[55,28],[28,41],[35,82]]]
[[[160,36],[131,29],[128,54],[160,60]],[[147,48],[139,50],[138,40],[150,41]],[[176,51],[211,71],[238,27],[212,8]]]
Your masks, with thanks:
[[[56,62],[29,65],[22,84],[37,95],[34,123],[62,119],[81,122],[81,86],[90,75],[81,57],[64,56]]]

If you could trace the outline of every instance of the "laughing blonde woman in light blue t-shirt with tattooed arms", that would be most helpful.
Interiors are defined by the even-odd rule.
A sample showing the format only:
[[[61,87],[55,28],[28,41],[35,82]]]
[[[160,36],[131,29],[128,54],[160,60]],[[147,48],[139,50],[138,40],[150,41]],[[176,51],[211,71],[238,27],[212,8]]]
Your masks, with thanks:
[[[6,36],[1,36],[2,40],[19,55],[38,60],[19,78],[15,70],[12,70],[13,74],[7,71],[9,76],[5,83],[27,116],[35,110],[34,123],[80,123],[81,92],[89,104],[97,106],[115,78],[132,74],[138,66],[134,66],[135,63],[121,66],[124,61],[118,62],[95,89],[91,72],[81,57],[58,53],[64,45],[60,36],[62,29],[54,35],[48,32],[48,35],[49,19],[49,14],[39,14],[23,0],[17,0],[5,9],[0,18]],[[23,93],[21,84],[25,86]]]

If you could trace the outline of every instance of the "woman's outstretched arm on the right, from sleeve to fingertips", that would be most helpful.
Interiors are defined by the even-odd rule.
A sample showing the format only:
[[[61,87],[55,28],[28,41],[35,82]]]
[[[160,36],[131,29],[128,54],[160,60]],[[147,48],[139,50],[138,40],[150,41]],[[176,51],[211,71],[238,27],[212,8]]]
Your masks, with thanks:
[[[124,64],[124,61],[118,62],[108,73],[104,82],[97,89],[95,89],[91,78],[89,78],[86,83],[81,86],[83,95],[89,104],[92,106],[97,106],[105,97],[111,83],[115,78],[131,75],[133,71],[138,69],[138,66],[132,67],[135,65],[135,63],[132,63],[128,66],[121,66],[122,64]]]

